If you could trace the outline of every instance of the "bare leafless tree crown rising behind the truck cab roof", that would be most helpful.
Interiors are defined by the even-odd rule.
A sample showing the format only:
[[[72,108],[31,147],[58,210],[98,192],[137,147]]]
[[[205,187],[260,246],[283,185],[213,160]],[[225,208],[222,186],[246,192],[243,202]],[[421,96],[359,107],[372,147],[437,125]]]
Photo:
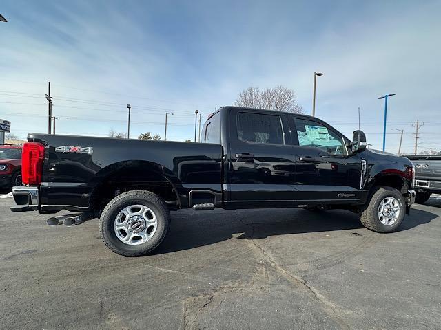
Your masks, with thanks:
[[[265,88],[263,91],[260,91],[259,87],[248,87],[239,93],[233,104],[236,107],[303,113],[302,106],[297,104],[294,91],[281,85]]]

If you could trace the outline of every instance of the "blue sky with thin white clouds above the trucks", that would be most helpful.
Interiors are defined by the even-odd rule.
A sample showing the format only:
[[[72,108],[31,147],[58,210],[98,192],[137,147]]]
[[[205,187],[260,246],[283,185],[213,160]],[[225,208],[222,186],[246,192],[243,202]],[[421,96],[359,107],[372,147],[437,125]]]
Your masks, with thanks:
[[[441,1],[20,1],[0,13],[0,118],[11,133],[150,131],[194,138],[202,122],[249,87],[293,89],[311,113],[386,151],[441,150]]]

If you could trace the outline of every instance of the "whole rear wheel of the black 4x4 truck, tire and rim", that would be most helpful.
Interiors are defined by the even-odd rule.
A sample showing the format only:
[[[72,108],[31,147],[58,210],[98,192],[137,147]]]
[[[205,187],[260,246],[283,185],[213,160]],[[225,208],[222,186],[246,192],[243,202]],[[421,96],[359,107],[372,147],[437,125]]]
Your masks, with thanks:
[[[101,237],[121,256],[143,256],[158,247],[170,228],[170,211],[153,192],[132,190],[110,201],[100,217]]]

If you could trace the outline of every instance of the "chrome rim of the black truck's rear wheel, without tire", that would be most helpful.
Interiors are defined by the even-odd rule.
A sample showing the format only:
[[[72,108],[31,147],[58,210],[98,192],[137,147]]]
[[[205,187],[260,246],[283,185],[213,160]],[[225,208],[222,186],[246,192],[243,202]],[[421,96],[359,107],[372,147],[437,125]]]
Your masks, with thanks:
[[[151,208],[131,205],[123,208],[114,221],[114,231],[118,239],[128,245],[143,244],[154,236],[158,220]]]

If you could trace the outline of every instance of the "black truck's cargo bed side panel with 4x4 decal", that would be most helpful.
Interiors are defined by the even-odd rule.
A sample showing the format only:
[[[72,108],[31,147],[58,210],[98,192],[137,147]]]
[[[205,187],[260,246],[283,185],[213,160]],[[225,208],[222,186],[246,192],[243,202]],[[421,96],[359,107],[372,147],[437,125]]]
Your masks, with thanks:
[[[103,185],[119,181],[169,186],[176,194],[170,199],[182,207],[188,206],[192,190],[222,192],[220,144],[37,133],[28,141],[45,144],[39,188],[43,212],[89,210],[94,193],[106,193]]]

